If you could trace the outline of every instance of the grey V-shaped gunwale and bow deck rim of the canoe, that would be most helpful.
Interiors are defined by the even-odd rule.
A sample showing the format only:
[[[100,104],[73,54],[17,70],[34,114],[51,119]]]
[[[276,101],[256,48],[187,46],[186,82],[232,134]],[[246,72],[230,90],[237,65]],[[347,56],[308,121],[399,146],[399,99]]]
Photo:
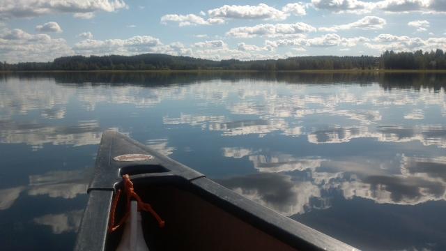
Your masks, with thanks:
[[[150,154],[154,158],[137,162],[118,162],[113,160],[114,156],[125,153]],[[151,170],[155,170],[155,168],[151,168],[156,165],[160,165],[168,171],[151,172]],[[112,196],[116,188],[121,187],[121,174],[123,174],[125,167],[129,166],[146,167],[148,170],[148,173],[145,174],[129,174],[135,188],[139,185],[166,185],[187,190],[298,250],[357,250],[350,245],[246,199],[236,192],[211,181],[190,167],[171,160],[125,135],[114,131],[105,131],[102,135],[98,157],[95,162],[93,180],[88,189],[90,197],[81,226],[79,227],[75,246],[76,251],[105,250],[107,241],[106,229]],[[94,217],[94,215],[97,215],[97,217]]]

